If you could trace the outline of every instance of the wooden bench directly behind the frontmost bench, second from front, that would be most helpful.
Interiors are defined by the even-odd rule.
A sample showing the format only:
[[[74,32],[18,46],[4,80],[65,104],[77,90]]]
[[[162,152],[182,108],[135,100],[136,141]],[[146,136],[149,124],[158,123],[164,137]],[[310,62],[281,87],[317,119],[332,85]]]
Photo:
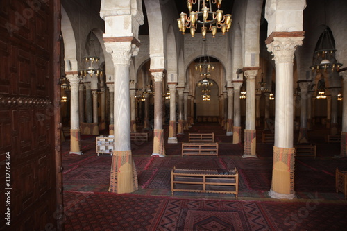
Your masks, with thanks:
[[[218,143],[182,143],[183,155],[218,155]]]

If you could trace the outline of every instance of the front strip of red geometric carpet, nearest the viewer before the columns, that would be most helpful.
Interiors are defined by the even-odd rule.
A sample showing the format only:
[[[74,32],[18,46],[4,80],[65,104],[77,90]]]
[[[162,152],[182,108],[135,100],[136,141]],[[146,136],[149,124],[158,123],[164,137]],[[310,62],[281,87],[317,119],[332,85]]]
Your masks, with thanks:
[[[65,230],[344,230],[346,205],[65,192]]]

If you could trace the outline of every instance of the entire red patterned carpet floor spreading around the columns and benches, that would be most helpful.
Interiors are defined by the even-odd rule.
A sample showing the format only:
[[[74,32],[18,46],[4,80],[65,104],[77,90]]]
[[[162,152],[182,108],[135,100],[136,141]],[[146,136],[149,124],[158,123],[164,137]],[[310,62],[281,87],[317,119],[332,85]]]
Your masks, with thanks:
[[[272,144],[257,143],[258,158],[244,159],[242,145],[231,144],[231,137],[226,137],[220,126],[192,128],[201,130],[215,133],[218,157],[181,157],[180,142],[187,142],[187,133],[178,137],[178,144],[165,144],[165,158],[151,156],[151,136],[149,142],[132,144],[139,182],[139,190],[133,194],[108,193],[112,157],[96,155],[96,136],[82,140],[83,155],[70,155],[69,140],[64,142],[65,230],[346,230],[347,201],[335,192],[335,169],[347,169],[347,158],[335,157],[338,144],[316,144],[315,159],[296,158],[298,199],[284,202],[267,194],[271,188]],[[174,166],[236,167],[239,200],[232,194],[176,192],[171,196]]]

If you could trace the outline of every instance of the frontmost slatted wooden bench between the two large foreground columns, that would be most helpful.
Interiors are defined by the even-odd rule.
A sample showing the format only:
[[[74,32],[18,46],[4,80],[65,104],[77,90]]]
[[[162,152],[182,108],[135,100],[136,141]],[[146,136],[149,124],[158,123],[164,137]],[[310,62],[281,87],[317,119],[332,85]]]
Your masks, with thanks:
[[[221,173],[220,170],[224,172]],[[175,191],[204,192],[237,194],[239,191],[239,174],[237,169],[194,170],[176,169],[171,170],[171,194]]]

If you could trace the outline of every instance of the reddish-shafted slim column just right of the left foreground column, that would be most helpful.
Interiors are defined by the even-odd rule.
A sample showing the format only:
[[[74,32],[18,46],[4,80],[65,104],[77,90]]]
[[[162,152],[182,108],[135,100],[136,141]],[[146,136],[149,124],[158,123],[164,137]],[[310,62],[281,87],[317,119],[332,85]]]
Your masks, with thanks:
[[[153,134],[153,153],[159,157],[165,157],[164,130],[162,129],[162,78],[164,70],[151,69],[154,77],[154,134]]]

